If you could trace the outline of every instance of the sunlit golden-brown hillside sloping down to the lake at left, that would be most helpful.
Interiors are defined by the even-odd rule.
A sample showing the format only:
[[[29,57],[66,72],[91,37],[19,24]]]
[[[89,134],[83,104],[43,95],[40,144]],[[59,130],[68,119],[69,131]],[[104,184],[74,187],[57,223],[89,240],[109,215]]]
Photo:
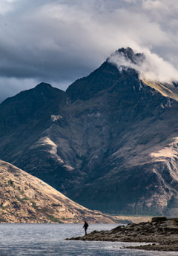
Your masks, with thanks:
[[[74,203],[42,180],[0,161],[1,223],[113,223],[111,217]]]

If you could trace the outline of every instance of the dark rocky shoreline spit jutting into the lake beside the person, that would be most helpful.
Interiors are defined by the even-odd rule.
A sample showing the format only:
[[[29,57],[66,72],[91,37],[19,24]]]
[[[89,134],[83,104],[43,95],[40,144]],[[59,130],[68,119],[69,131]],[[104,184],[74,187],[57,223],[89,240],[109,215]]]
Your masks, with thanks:
[[[125,246],[125,248],[178,252],[178,218],[153,217],[150,222],[129,223],[111,231],[95,230],[83,237],[72,237],[67,240],[148,243],[140,246]]]

